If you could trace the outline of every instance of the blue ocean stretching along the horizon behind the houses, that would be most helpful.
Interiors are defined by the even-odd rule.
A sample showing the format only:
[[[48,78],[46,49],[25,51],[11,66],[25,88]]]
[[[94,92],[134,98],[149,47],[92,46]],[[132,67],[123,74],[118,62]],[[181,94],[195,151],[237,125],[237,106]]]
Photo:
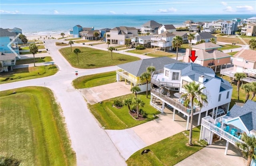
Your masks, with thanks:
[[[186,20],[194,22],[212,22],[219,19],[232,20],[234,18],[253,17],[250,14],[214,14],[214,15],[29,15],[29,14],[1,14],[1,28],[20,28],[26,36],[68,34],[75,25],[94,27],[94,29],[114,28],[116,26],[129,26],[140,28],[149,20],[160,24],[173,24],[180,27]]]

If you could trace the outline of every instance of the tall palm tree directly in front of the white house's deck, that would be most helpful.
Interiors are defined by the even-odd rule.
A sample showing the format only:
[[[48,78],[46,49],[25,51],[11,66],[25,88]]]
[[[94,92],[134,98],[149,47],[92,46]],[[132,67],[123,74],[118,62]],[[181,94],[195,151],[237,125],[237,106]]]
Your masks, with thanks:
[[[207,96],[202,92],[202,90],[205,89],[205,87],[200,88],[200,84],[196,84],[195,81],[190,82],[190,84],[184,85],[184,88],[187,91],[186,94],[182,94],[181,96],[182,98],[185,98],[184,105],[188,107],[188,105],[191,104],[190,131],[188,144],[192,146],[192,122],[194,115],[194,104],[202,108],[203,104],[207,104],[208,101]]]

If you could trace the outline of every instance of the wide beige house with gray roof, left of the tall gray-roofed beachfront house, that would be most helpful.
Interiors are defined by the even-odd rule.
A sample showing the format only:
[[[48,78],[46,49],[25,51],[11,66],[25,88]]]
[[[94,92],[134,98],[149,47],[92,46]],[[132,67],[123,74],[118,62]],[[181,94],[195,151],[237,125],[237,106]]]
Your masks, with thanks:
[[[125,44],[125,39],[138,36],[138,30],[134,27],[119,26],[106,32],[106,42],[110,44]]]

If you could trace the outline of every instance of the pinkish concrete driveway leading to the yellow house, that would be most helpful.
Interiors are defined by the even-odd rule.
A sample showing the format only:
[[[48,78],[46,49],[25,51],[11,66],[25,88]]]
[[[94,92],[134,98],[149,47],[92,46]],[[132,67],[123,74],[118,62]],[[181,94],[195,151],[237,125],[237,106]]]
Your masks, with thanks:
[[[130,94],[132,93],[130,89],[130,84],[125,84],[124,82],[114,82],[112,84],[79,89],[79,91],[82,93],[87,102],[90,104],[95,104],[103,100]]]

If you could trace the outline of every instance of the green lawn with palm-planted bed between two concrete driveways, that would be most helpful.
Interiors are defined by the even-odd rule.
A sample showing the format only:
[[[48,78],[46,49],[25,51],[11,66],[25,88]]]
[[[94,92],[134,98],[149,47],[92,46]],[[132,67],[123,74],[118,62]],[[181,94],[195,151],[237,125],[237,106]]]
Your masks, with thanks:
[[[123,106],[120,109],[112,106],[115,99],[123,101],[127,98],[134,98],[134,94],[128,94],[125,96],[104,100],[102,104],[97,103],[89,105],[89,108],[102,126],[104,126],[106,129],[112,130],[120,130],[137,126],[139,124],[155,119],[153,114],[160,113],[155,108],[150,106],[150,98],[146,98],[146,94],[138,94],[138,98],[145,102],[145,106],[142,109],[148,114],[148,118],[146,118],[146,120],[135,120],[132,118],[132,116],[129,114],[127,106]]]

